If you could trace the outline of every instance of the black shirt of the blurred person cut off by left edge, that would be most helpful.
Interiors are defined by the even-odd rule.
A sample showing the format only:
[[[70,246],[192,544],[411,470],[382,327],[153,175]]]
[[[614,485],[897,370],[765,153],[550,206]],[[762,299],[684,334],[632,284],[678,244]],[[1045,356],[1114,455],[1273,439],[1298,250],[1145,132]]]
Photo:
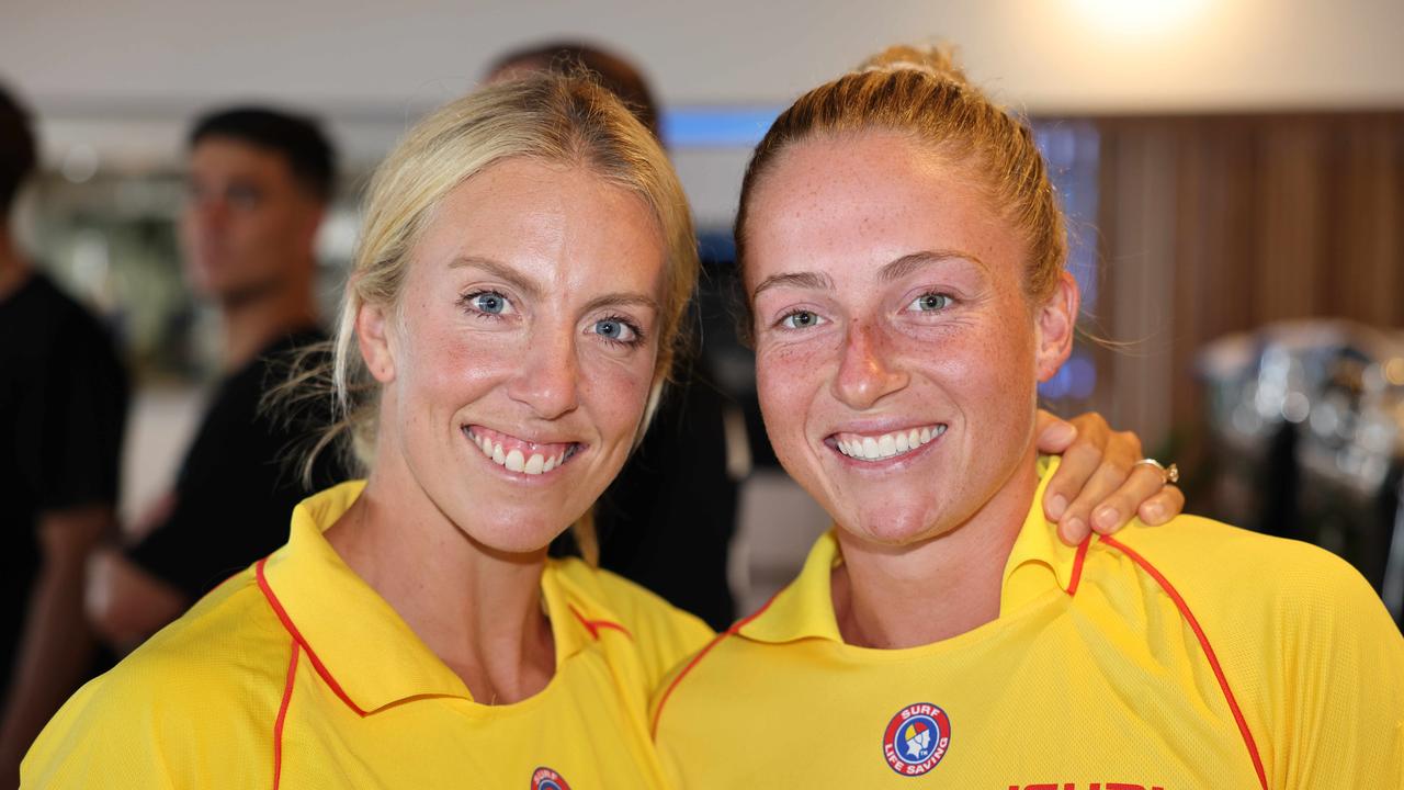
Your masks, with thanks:
[[[39,516],[117,503],[126,402],[107,332],[48,277],[0,301],[0,686],[39,568]]]

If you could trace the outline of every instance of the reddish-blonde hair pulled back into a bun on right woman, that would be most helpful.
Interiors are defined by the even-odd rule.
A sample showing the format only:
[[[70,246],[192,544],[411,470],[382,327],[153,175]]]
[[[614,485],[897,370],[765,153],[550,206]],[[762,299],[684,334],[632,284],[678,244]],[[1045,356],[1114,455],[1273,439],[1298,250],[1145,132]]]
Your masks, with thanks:
[[[1053,292],[1067,261],[1067,231],[1033,131],[972,86],[945,46],[887,48],[781,112],[741,181],[736,249],[743,267],[747,209],[779,155],[806,139],[875,129],[911,135],[966,167],[1024,235],[1025,292],[1033,299]]]

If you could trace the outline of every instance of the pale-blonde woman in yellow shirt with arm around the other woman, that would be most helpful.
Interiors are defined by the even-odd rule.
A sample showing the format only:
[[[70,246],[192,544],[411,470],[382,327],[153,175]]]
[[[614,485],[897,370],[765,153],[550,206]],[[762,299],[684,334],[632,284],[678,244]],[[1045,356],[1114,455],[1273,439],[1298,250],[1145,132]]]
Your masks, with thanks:
[[[677,177],[592,83],[424,119],[371,186],[337,333],[366,481],[86,686],[24,783],[661,786],[647,697],[712,634],[546,545],[644,430],[695,278]]]

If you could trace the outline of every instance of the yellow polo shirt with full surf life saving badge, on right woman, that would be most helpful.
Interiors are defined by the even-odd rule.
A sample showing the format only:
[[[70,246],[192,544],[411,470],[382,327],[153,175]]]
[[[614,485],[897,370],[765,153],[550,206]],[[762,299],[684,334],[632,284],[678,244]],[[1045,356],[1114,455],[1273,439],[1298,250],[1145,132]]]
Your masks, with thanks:
[[[1404,638],[1349,565],[1193,516],[1066,547],[1042,496],[1000,617],[910,649],[844,644],[820,538],[656,696],[674,784],[1404,787]]]

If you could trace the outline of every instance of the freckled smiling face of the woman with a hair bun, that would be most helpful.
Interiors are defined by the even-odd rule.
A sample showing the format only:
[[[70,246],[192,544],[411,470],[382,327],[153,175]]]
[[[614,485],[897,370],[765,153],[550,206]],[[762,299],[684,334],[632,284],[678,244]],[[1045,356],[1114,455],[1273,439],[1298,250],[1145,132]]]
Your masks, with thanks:
[[[977,183],[897,134],[807,141],[761,180],[746,245],[767,432],[841,527],[943,534],[1032,461],[1075,285],[1031,304],[1025,245]]]

